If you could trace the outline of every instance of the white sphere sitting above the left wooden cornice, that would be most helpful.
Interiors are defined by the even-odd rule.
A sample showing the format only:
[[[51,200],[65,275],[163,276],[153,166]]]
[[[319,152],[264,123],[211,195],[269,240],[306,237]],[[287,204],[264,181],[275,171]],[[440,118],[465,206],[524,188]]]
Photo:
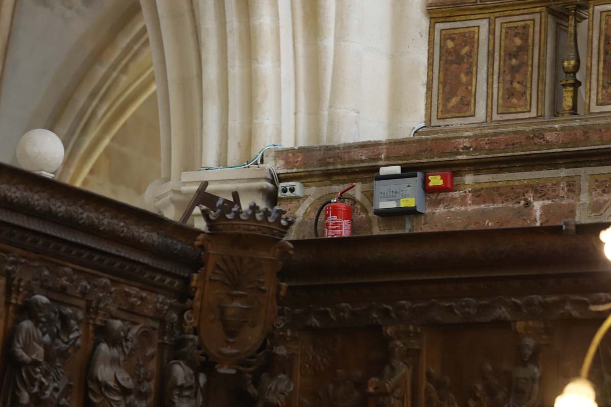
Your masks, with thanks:
[[[16,155],[25,170],[53,176],[64,161],[64,145],[54,132],[34,129],[21,136]]]

